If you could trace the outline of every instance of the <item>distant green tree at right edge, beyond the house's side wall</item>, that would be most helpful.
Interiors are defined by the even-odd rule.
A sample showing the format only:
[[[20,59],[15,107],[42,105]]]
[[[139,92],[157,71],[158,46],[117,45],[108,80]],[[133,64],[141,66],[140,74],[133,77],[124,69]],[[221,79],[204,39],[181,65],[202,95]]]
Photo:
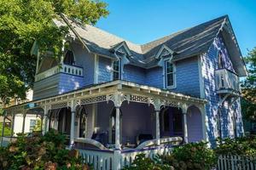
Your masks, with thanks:
[[[241,110],[247,120],[256,122],[256,48],[247,54],[246,62],[249,76],[241,85]]]

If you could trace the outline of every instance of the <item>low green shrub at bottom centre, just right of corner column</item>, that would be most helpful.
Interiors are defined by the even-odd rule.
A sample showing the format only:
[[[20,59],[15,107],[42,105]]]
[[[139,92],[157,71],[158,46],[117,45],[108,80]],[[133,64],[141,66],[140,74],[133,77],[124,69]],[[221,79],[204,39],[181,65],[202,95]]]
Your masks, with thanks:
[[[154,159],[150,159],[145,154],[137,155],[135,160],[131,163],[131,166],[126,166],[123,170],[172,170],[173,167],[164,164],[159,156],[155,156]]]

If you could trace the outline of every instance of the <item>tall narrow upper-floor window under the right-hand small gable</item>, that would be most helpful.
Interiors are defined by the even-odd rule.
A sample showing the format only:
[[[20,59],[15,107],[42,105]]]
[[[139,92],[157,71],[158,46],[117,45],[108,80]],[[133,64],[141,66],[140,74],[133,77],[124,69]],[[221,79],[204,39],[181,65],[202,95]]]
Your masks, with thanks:
[[[175,87],[175,65],[166,61],[166,88]]]

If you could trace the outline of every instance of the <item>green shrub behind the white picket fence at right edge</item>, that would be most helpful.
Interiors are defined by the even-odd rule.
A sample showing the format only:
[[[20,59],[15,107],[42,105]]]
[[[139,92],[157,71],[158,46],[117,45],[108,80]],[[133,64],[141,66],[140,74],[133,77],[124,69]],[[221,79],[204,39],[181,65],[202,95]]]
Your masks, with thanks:
[[[256,156],[256,137],[218,139],[218,147],[215,152],[218,155]]]

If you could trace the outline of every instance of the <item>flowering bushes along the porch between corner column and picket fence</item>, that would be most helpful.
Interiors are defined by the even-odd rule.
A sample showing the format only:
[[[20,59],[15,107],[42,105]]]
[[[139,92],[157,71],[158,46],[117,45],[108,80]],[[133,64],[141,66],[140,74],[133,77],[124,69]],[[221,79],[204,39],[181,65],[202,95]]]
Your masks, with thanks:
[[[171,155],[156,156],[153,160],[144,155],[137,156],[131,167],[124,170],[209,170],[217,163],[217,157],[207,143],[190,143],[176,147]]]

